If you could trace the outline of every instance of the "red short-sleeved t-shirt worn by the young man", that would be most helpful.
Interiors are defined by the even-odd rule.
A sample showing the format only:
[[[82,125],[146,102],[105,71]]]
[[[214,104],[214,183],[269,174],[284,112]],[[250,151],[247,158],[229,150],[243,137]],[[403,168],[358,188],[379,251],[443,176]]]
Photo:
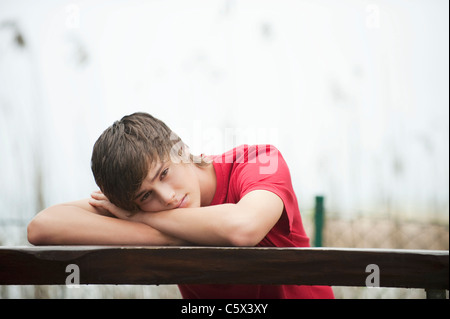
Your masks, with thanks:
[[[213,157],[217,177],[211,205],[237,203],[247,193],[267,190],[284,203],[281,218],[257,245],[309,247],[291,176],[281,153],[271,145],[242,145]],[[179,285],[185,299],[334,298],[331,287],[299,285]]]

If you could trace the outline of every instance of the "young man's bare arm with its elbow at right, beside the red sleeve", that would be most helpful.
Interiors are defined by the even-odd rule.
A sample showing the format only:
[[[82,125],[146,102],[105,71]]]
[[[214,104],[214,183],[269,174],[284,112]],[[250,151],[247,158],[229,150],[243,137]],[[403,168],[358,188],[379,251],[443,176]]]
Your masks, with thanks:
[[[97,205],[112,204],[100,200]],[[237,204],[141,212],[132,216],[120,210],[113,213],[198,245],[255,246],[278,222],[283,208],[280,197],[256,190]]]

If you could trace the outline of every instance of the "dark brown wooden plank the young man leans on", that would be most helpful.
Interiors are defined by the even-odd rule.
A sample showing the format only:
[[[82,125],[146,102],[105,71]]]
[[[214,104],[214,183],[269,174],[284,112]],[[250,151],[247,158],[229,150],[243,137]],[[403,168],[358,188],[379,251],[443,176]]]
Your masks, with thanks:
[[[44,246],[0,247],[0,285],[64,285],[75,264],[81,284],[303,284],[448,289],[448,251]]]

